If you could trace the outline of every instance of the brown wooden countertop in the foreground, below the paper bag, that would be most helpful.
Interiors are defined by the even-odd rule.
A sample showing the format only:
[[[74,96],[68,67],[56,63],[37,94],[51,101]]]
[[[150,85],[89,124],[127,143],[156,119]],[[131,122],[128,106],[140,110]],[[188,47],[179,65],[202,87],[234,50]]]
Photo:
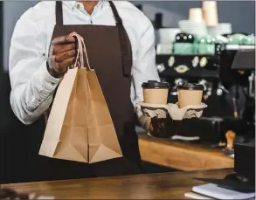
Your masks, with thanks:
[[[17,192],[35,192],[56,199],[184,199],[184,193],[203,184],[194,177],[224,178],[232,169],[186,171],[138,176],[80,179],[2,185]]]

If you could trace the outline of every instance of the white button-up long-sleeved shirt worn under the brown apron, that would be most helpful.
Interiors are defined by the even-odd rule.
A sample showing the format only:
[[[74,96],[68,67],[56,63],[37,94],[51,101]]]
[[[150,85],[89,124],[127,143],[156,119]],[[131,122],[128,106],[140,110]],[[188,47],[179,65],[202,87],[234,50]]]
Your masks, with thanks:
[[[114,5],[132,45],[131,100],[135,105],[143,99],[142,82],[159,80],[155,32],[149,19],[132,3],[120,1]],[[82,3],[63,2],[63,20],[64,24],[115,25],[107,1],[100,1],[92,15],[86,13]],[[55,24],[55,2],[42,1],[20,17],[10,41],[10,105],[24,124],[37,121],[45,113],[59,84],[45,64]]]

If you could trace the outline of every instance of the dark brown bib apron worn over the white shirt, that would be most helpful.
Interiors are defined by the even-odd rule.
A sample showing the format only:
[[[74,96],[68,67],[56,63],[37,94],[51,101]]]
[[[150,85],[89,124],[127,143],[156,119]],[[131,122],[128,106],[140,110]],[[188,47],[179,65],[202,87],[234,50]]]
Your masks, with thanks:
[[[52,34],[53,39],[75,31],[85,39],[88,59],[97,73],[118,134],[124,157],[91,164],[90,170],[93,176],[135,174],[139,173],[141,168],[138,137],[135,133],[134,107],[130,100],[132,49],[121,17],[114,3],[109,3],[116,26],[64,25],[62,2],[56,2],[56,25]],[[69,165],[72,166],[71,163]],[[73,170],[76,170],[75,166]]]

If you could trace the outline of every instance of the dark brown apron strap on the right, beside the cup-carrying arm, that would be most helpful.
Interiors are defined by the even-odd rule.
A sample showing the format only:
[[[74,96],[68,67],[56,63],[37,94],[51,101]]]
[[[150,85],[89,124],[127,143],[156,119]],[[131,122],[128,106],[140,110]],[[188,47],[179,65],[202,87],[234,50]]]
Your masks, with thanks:
[[[116,27],[118,29],[119,41],[121,47],[121,66],[123,76],[130,78],[131,75],[131,67],[132,67],[132,47],[128,41],[127,31],[125,30],[121,17],[114,6],[112,1],[109,1],[110,7],[114,14],[114,19],[116,23]],[[130,51],[129,51],[130,50]]]

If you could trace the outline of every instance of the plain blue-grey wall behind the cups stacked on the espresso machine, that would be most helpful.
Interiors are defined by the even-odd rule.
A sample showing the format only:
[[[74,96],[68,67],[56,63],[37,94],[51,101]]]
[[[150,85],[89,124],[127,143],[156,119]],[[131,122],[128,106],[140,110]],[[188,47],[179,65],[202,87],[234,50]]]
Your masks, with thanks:
[[[133,1],[144,4],[151,19],[156,11],[164,13],[163,24],[177,27],[177,22],[189,17],[190,8],[202,7],[202,1]],[[255,32],[255,1],[218,1],[220,23],[231,23],[233,31]]]

